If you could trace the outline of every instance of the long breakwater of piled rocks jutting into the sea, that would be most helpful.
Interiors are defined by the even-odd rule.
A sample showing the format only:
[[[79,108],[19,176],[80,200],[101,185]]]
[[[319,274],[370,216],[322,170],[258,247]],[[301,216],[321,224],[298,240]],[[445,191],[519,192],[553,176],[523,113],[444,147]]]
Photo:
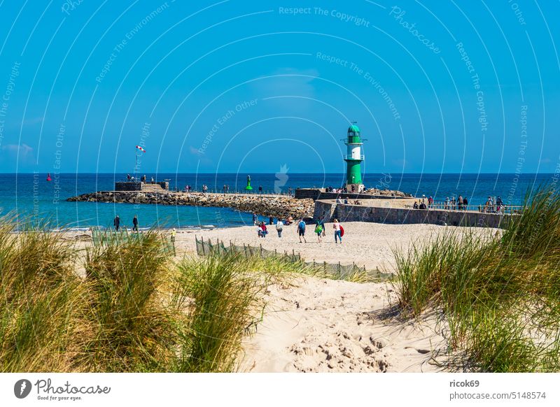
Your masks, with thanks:
[[[101,191],[71,197],[66,201],[214,206],[255,212],[262,216],[272,215],[282,219],[288,216],[311,217],[314,211],[313,199],[251,194],[202,194],[202,192]]]

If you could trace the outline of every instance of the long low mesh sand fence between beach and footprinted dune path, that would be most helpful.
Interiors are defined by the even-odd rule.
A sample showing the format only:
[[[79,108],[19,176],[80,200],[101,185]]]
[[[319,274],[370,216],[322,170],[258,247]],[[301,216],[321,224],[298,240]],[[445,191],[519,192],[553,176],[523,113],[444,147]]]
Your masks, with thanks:
[[[332,264],[327,262],[316,262],[313,259],[312,262],[306,262],[302,259],[300,253],[296,253],[295,250],[292,252],[283,251],[278,252],[277,250],[267,250],[262,248],[262,245],[258,247],[251,246],[251,245],[234,245],[231,241],[229,245],[225,245],[223,241],[216,239],[215,243],[212,243],[211,240],[204,240],[204,237],[200,238],[200,240],[195,236],[196,241],[196,248],[197,248],[197,255],[199,256],[207,256],[211,254],[216,255],[225,255],[230,252],[237,252],[246,258],[250,257],[260,257],[262,259],[266,257],[278,257],[280,259],[285,260],[286,262],[292,263],[300,263],[302,266],[307,266],[316,272],[322,272],[325,275],[331,276],[332,278],[342,280],[346,276],[351,276],[353,274],[362,272],[366,273],[367,277],[370,280],[390,280],[393,278],[393,274],[391,273],[381,273],[379,269],[376,270],[366,270],[365,266],[358,266],[355,263],[352,264]]]

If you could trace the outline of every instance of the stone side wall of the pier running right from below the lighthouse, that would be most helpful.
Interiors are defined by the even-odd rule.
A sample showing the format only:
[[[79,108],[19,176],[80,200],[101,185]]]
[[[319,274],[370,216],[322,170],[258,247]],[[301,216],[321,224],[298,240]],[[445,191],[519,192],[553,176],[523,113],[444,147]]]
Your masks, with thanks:
[[[505,227],[512,215],[461,210],[378,208],[315,201],[314,218],[332,222],[376,222],[388,224],[447,224],[451,226]],[[513,215],[515,216],[515,215]]]

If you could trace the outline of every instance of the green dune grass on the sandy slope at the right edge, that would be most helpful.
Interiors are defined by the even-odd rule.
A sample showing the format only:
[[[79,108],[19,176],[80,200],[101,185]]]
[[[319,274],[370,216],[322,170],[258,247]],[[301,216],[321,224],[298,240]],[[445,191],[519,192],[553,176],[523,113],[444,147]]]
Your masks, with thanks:
[[[501,237],[444,232],[395,250],[400,307],[442,310],[461,369],[560,371],[560,196],[541,187],[525,206]]]

